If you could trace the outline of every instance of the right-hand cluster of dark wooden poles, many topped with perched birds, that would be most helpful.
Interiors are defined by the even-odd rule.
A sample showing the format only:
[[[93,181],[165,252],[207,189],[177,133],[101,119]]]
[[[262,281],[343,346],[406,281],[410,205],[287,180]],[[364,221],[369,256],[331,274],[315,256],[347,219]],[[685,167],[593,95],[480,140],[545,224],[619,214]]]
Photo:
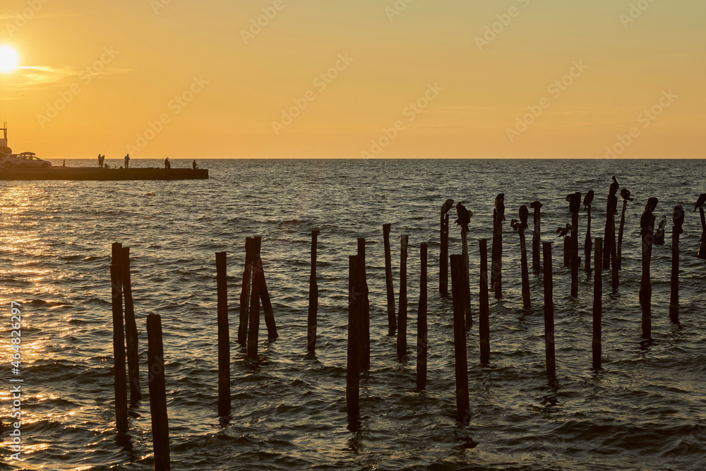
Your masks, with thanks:
[[[603,283],[602,272],[609,266],[611,270],[611,285],[618,287],[618,270],[621,268],[621,243],[623,239],[623,229],[625,225],[625,210],[629,198],[625,198],[623,203],[623,216],[621,217],[620,232],[618,242],[615,238],[614,214],[617,205],[615,193],[617,187],[611,185],[608,201],[608,217],[606,220],[606,250],[604,251],[604,239],[596,237],[592,244],[590,239],[590,201],[587,205],[588,222],[587,236],[585,243],[586,270],[591,270],[590,252],[594,247],[594,300],[593,300],[593,339],[592,339],[592,367],[596,370],[602,367],[602,296]],[[592,192],[591,192],[592,193]],[[501,298],[502,286],[502,221],[504,220],[504,195],[498,195],[496,200],[496,210],[493,211],[493,251],[491,261],[491,290],[495,292],[496,298]],[[578,297],[578,267],[580,258],[578,257],[578,213],[581,205],[580,193],[567,196],[571,217],[571,235],[564,239],[565,266],[571,268],[571,296]],[[592,194],[591,194],[592,199]],[[631,201],[631,200],[630,200]],[[700,200],[701,201],[701,200]],[[697,203],[698,204],[698,203]],[[540,241],[540,212],[542,204],[538,201],[532,203],[534,208],[534,237],[532,240],[532,264],[536,271],[544,272],[544,338],[546,374],[550,382],[556,382],[556,358],[554,347],[554,282],[552,275],[551,242]],[[657,206],[657,198],[650,198],[645,205],[645,212],[640,218],[640,234],[642,238],[642,278],[640,280],[639,301],[642,308],[642,337],[649,339],[652,335],[652,314],[651,296],[652,287],[650,284],[650,258],[652,246],[664,244],[664,231],[658,234],[654,229],[654,215],[652,212]],[[444,208],[447,210],[444,211]],[[467,229],[461,225],[462,254],[448,256],[448,209],[444,206],[441,211],[441,256],[439,260],[439,291],[448,294],[448,261],[450,259],[450,273],[452,282],[453,297],[453,332],[455,350],[455,378],[456,378],[456,403],[457,421],[467,424],[469,413],[469,393],[468,393],[468,370],[467,370],[467,348],[465,333],[472,325],[470,284],[469,284],[469,264],[467,251]],[[464,208],[465,210],[465,208]],[[706,220],[703,208],[699,207],[702,222],[702,237],[699,258],[706,258]],[[529,210],[522,205],[519,210],[519,222],[513,220],[513,229],[520,234],[520,263],[522,274],[522,304],[525,308],[530,307],[530,285],[529,270],[527,267],[527,249],[525,244],[525,229],[527,226]],[[671,277],[671,302],[669,315],[673,323],[678,323],[678,266],[679,266],[679,234],[683,232],[682,225],[684,211],[681,206],[676,206],[673,212],[673,257],[672,257],[672,277]],[[611,237],[612,234],[612,237]],[[383,239],[385,249],[385,280],[388,294],[388,327],[392,335],[397,328],[397,354],[400,360],[407,360],[407,247],[409,238],[407,235],[401,237],[400,250],[400,294],[399,312],[397,313],[397,323],[395,324],[395,295],[392,283],[392,268],[390,256],[390,225],[383,225]],[[542,244],[543,267],[539,265],[539,244]],[[362,246],[362,250],[361,250]],[[487,239],[479,239],[480,251],[480,280],[479,280],[479,350],[481,364],[487,364],[490,357],[489,341],[489,279],[488,279],[488,242]],[[420,295],[417,311],[417,387],[426,387],[426,356],[428,351],[427,342],[427,244],[421,244],[421,273],[420,273]],[[349,420],[357,421],[359,417],[359,374],[361,369],[369,367],[369,302],[365,274],[365,254],[364,242],[361,245],[359,239],[359,250],[355,256],[349,256],[349,331],[348,331],[348,369],[346,402]]]

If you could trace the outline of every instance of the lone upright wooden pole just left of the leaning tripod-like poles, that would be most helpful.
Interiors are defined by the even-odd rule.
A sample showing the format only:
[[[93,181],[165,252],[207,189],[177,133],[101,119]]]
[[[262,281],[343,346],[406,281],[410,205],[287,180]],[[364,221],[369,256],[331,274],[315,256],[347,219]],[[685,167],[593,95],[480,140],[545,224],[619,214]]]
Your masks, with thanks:
[[[230,327],[228,325],[228,280],[226,253],[216,252],[218,322],[218,415],[230,412]]]

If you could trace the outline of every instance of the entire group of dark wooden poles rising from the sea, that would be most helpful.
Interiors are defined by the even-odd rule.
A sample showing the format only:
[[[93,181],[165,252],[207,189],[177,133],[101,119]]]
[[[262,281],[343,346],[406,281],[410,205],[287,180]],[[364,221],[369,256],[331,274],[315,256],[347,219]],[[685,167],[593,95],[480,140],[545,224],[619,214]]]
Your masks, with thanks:
[[[612,188],[611,188],[612,190]],[[504,220],[503,195],[498,196],[496,210],[493,211],[493,250],[491,258],[491,278],[489,287],[488,274],[488,243],[487,239],[479,239],[480,273],[479,273],[479,350],[481,364],[489,363],[490,333],[489,333],[489,290],[493,290],[496,298],[502,297],[502,221]],[[569,195],[572,222],[571,236],[565,239],[565,256],[568,254],[568,264],[571,267],[571,296],[578,296],[578,213],[580,210],[580,193]],[[499,203],[499,204],[498,204]],[[627,201],[626,201],[627,203]],[[593,304],[593,342],[592,365],[594,369],[601,368],[601,321],[602,321],[602,270],[609,264],[612,266],[612,285],[618,286],[618,269],[620,268],[620,244],[624,226],[626,203],[623,204],[623,219],[621,220],[620,237],[615,242],[615,225],[611,201],[609,199],[609,215],[606,221],[606,236],[612,242],[604,239],[594,239],[594,304]],[[656,198],[650,198],[645,213],[640,219],[642,234],[642,280],[640,282],[640,305],[642,306],[642,336],[651,335],[651,286],[650,286],[650,254],[655,239],[654,215],[652,211],[657,205]],[[539,220],[541,203],[532,203],[534,208],[534,234],[532,239],[532,266],[535,270],[544,272],[544,328],[546,373],[550,381],[556,381],[556,360],[554,358],[554,304],[553,280],[551,266],[551,242],[542,242],[543,267],[539,266]],[[530,306],[529,271],[527,268],[527,249],[525,246],[525,229],[529,210],[520,207],[520,221],[513,220],[513,228],[520,234],[520,263],[522,265],[522,303]],[[700,208],[702,220],[701,246],[698,256],[706,258],[706,220],[704,211]],[[672,292],[670,304],[671,321],[678,323],[678,236],[681,234],[683,209],[674,209],[673,231],[673,263]],[[590,270],[590,205],[588,206],[587,241],[585,246],[586,268]],[[385,251],[385,286],[388,299],[388,328],[390,335],[397,333],[397,354],[401,361],[407,361],[407,249],[409,237],[402,235],[400,250],[400,293],[399,309],[395,314],[395,293],[392,277],[392,257],[390,250],[390,224],[383,225],[383,241]],[[441,214],[441,256],[439,291],[448,294],[448,261],[453,297],[453,331],[455,350],[456,400],[457,420],[467,424],[469,413],[469,391],[467,371],[466,330],[472,325],[470,278],[467,251],[467,229],[462,227],[462,253],[448,256],[448,211]],[[568,242],[567,242],[568,239]],[[316,280],[316,256],[318,231],[311,233],[311,275],[309,284],[309,315],[307,327],[307,348],[316,349],[316,329],[318,310],[318,285]],[[428,245],[421,244],[421,274],[420,296],[417,311],[417,387],[426,388],[427,359],[427,251]],[[606,252],[610,252],[607,254]],[[216,254],[217,273],[217,326],[218,326],[218,412],[221,417],[227,417],[231,409],[230,400],[230,341],[227,302],[227,258],[225,252]],[[110,269],[112,282],[112,314],[114,325],[114,359],[115,359],[115,410],[116,429],[124,434],[128,430],[127,419],[127,386],[130,386],[131,403],[137,403],[141,398],[138,334],[135,321],[131,280],[129,248],[115,243],[112,247],[112,265]],[[124,304],[123,304],[124,302]],[[265,324],[269,338],[277,338],[277,328],[272,304],[265,283],[265,273],[261,258],[261,237],[246,239],[246,261],[240,295],[240,324],[238,342],[246,347],[249,357],[256,358],[258,352],[258,334],[260,326],[261,303],[264,311]],[[123,309],[124,308],[124,309]],[[358,239],[358,250],[354,256],[349,256],[349,328],[347,351],[347,385],[346,403],[349,419],[359,417],[359,376],[360,372],[370,367],[370,302],[366,280],[365,239]],[[155,448],[155,470],[169,470],[169,434],[167,419],[167,400],[164,381],[164,349],[162,345],[162,321],[157,314],[147,316],[148,333],[148,384],[150,390],[150,411],[152,414],[152,435]],[[126,350],[127,347],[127,350]],[[127,354],[126,354],[127,352]],[[126,357],[128,371],[126,374]]]

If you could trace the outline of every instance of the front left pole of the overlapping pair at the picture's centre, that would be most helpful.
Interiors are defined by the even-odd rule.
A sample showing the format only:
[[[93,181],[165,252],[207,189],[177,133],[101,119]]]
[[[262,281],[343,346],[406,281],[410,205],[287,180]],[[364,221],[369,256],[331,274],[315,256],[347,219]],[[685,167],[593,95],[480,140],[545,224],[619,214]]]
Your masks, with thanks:
[[[348,359],[346,374],[346,411],[351,422],[360,413],[360,342],[359,314],[362,287],[359,286],[359,256],[348,257]]]

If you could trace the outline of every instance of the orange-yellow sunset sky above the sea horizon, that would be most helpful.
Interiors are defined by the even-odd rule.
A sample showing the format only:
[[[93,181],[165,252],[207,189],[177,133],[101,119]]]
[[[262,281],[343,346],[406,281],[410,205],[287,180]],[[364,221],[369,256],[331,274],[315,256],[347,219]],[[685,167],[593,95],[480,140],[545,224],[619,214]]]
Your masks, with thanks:
[[[4,0],[0,121],[49,159],[700,158],[705,24],[703,0]]]

